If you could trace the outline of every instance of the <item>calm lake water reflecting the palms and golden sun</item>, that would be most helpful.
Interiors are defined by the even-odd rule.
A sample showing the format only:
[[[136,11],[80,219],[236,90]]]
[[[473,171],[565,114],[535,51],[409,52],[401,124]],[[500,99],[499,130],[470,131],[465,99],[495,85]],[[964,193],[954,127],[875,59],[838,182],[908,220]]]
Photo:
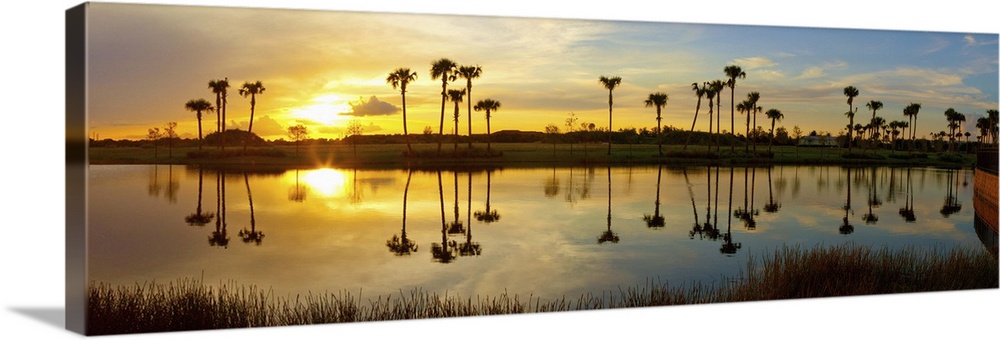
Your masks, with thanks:
[[[572,298],[648,280],[720,282],[783,245],[983,247],[972,180],[971,170],[888,167],[91,165],[88,273],[113,284],[204,278],[279,296],[419,288]]]

